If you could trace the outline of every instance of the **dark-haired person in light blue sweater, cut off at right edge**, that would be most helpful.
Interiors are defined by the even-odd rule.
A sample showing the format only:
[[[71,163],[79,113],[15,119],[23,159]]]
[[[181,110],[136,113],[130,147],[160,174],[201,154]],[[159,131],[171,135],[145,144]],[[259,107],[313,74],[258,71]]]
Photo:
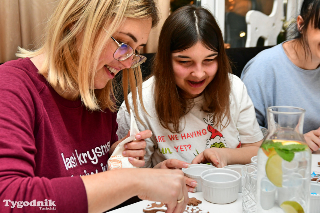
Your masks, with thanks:
[[[269,106],[306,109],[303,133],[311,151],[320,147],[320,1],[305,0],[296,36],[251,59],[241,75],[261,128]]]

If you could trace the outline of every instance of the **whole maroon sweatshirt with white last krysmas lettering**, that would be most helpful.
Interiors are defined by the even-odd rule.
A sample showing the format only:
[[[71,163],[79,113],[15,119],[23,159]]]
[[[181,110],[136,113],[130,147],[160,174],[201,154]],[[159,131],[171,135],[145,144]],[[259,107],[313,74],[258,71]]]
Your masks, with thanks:
[[[80,176],[107,170],[117,128],[116,113],[62,98],[30,59],[1,65],[0,212],[88,212]]]

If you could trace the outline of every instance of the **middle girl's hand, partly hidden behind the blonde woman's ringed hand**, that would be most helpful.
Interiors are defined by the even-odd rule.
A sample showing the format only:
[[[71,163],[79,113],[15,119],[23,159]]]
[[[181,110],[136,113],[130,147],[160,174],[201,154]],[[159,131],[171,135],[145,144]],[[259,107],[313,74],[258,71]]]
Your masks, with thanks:
[[[164,160],[163,162],[158,163],[153,168],[155,168],[155,169],[182,169],[182,168],[188,168],[189,165],[190,164],[187,162],[172,158],[172,159],[167,159],[167,160]],[[188,192],[196,192],[195,187],[198,185],[198,183],[189,177],[184,177],[184,178],[185,178],[185,183],[186,183]]]

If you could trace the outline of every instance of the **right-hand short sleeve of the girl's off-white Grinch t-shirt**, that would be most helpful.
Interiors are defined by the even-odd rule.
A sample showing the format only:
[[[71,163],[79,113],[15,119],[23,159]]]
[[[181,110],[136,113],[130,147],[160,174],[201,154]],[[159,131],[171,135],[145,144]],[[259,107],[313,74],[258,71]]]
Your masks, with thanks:
[[[255,117],[253,103],[248,95],[245,85],[237,80],[235,104],[239,109],[236,127],[240,134],[241,143],[255,143],[263,139],[262,132]]]

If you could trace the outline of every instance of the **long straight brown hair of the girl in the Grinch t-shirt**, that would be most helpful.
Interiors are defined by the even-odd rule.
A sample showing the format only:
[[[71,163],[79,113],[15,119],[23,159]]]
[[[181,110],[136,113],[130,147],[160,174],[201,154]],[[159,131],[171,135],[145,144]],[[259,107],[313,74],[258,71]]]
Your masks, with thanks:
[[[173,133],[183,130],[181,119],[193,107],[193,102],[192,99],[184,98],[184,92],[176,86],[171,53],[186,50],[197,42],[218,52],[218,71],[203,91],[202,110],[213,113],[216,125],[220,124],[223,128],[228,125],[231,66],[224,49],[221,30],[207,9],[187,5],[173,12],[165,20],[153,64],[158,119],[164,128]],[[228,119],[222,124],[224,117]]]

